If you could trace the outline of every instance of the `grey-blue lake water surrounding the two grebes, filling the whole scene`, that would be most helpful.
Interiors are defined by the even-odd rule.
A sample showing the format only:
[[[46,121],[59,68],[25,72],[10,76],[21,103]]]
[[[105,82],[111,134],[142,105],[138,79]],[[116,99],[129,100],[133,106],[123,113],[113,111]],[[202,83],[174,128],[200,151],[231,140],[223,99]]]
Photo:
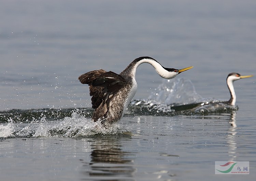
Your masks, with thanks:
[[[234,82],[236,107],[176,110],[228,100],[230,72],[256,75],[255,9],[253,0],[3,1],[1,180],[254,180],[255,76]],[[125,117],[92,123],[77,77],[120,73],[140,56],[194,68],[168,82],[142,64]],[[215,175],[215,161],[249,161],[250,174]]]

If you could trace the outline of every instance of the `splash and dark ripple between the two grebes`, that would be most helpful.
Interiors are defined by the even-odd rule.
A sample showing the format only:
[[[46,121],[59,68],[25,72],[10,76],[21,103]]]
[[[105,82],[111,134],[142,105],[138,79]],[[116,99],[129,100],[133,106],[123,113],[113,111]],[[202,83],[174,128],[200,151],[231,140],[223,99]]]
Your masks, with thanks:
[[[229,113],[238,110],[219,100],[202,98],[190,80],[163,80],[147,99],[137,99],[129,106],[130,114],[195,115]]]

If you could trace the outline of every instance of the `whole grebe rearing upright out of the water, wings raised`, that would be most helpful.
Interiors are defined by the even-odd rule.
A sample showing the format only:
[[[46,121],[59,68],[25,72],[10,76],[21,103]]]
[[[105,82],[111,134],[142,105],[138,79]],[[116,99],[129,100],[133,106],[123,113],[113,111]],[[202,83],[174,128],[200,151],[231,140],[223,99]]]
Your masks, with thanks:
[[[163,78],[171,79],[179,73],[193,68],[184,69],[165,68],[154,58],[139,57],[133,60],[120,74],[112,71],[94,70],[78,77],[82,84],[88,84],[91,104],[94,109],[92,120],[102,124],[114,123],[122,118],[125,109],[137,90],[135,74],[137,67],[142,63],[151,64]]]

